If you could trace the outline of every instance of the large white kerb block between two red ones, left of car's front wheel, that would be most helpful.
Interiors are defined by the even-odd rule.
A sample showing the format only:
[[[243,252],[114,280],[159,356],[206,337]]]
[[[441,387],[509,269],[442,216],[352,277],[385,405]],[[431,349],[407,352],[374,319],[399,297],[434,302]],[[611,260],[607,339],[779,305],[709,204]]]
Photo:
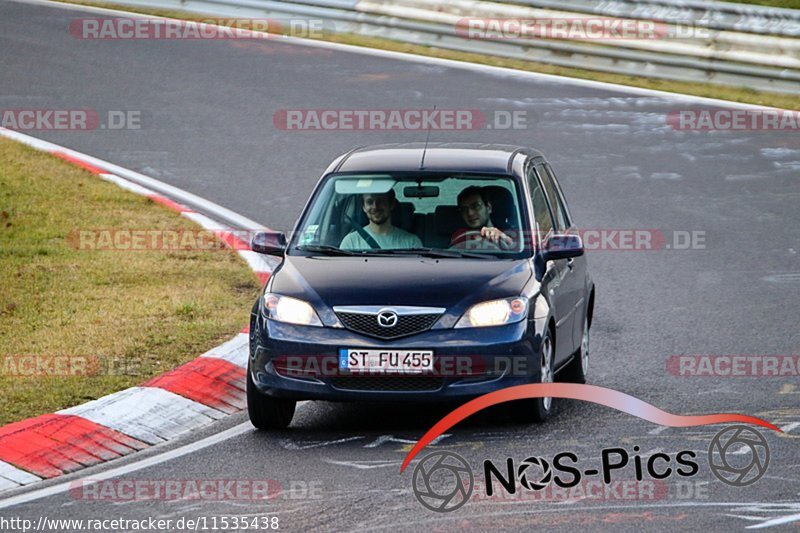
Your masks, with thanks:
[[[58,414],[77,415],[148,444],[173,439],[225,416],[222,411],[156,387],[133,387]]]

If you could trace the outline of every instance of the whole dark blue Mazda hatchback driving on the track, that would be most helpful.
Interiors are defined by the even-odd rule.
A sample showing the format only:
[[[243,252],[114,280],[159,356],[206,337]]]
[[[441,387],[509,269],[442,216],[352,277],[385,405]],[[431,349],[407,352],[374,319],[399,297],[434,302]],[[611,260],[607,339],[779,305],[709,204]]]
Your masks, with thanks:
[[[250,317],[261,429],[298,400],[439,401],[583,383],[594,283],[544,156],[478,144],[359,148],[320,179]],[[541,421],[552,398],[512,402]]]

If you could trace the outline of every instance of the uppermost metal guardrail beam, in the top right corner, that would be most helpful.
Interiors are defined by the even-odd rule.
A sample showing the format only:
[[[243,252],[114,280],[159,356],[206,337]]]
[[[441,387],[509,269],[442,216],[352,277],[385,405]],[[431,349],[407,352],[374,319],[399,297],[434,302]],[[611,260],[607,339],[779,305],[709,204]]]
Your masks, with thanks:
[[[515,4],[594,15],[696,24],[717,30],[800,36],[800,10],[708,0],[514,0]]]

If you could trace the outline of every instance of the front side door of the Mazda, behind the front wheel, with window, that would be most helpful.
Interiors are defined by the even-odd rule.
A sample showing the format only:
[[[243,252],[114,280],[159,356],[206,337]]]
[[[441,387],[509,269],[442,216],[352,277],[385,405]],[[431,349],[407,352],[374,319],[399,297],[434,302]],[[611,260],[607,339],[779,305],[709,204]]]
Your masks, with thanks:
[[[540,235],[539,240],[542,243],[546,243],[554,234],[556,226],[534,163],[527,165],[525,176],[533,209],[533,221],[536,225],[535,232]],[[536,241],[535,238],[534,241]],[[572,306],[569,295],[566,292],[568,283],[565,280],[568,273],[569,267],[566,259],[548,261],[541,280],[542,291],[545,292],[546,298],[550,302],[550,307],[554,309],[556,321],[556,365],[567,359],[573,352],[572,330],[574,326],[569,320],[569,311]]]

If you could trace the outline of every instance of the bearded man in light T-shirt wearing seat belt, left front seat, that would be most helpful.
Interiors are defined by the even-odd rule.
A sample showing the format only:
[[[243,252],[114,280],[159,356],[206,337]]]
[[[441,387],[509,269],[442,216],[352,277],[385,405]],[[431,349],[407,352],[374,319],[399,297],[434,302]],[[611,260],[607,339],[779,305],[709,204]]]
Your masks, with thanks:
[[[422,248],[422,241],[413,233],[392,225],[392,211],[397,207],[397,198],[394,190],[384,194],[365,194],[361,197],[364,213],[369,219],[369,224],[363,231],[374,239],[381,249],[408,249]],[[345,235],[339,245],[342,250],[372,250],[374,246],[364,239],[358,231]]]

